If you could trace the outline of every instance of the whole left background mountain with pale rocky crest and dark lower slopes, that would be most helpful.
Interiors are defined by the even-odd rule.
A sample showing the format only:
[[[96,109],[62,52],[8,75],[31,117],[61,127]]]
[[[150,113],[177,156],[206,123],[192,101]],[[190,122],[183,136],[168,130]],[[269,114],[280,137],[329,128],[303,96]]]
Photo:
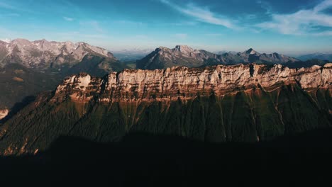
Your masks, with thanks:
[[[0,40],[0,110],[13,108],[40,91],[55,89],[70,74],[87,72],[103,77],[125,68],[129,67],[111,52],[85,42]]]

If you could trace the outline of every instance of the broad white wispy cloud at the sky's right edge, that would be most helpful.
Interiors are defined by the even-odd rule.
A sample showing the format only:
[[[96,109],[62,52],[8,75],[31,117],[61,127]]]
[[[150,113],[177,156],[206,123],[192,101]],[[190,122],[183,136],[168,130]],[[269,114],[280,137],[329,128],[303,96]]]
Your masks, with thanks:
[[[332,0],[325,0],[314,8],[295,13],[271,13],[272,21],[258,23],[256,26],[285,35],[332,35],[332,16],[323,12],[331,7]]]

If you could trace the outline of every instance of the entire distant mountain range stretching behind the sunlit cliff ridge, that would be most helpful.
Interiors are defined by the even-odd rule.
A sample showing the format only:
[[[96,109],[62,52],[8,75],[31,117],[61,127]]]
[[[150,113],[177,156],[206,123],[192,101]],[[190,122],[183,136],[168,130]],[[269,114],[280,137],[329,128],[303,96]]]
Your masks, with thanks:
[[[123,50],[126,54],[143,57],[150,50]],[[143,54],[144,53],[144,54]],[[125,55],[125,56],[121,56]],[[138,57],[135,57],[137,59]],[[52,91],[71,74],[86,72],[92,77],[104,77],[123,69],[166,69],[167,67],[209,67],[217,64],[283,64],[287,67],[323,66],[328,61],[301,62],[278,53],[265,54],[253,49],[245,52],[221,52],[216,55],[206,50],[194,50],[186,45],[170,49],[158,47],[140,60],[121,62],[106,49],[85,42],[54,42],[25,39],[0,41],[0,118],[16,113],[34,100],[42,91]]]

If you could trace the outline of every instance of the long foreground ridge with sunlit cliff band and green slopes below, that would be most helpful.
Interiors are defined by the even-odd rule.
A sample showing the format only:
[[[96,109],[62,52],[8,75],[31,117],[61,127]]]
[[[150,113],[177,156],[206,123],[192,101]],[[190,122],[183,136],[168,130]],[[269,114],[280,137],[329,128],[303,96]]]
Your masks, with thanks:
[[[60,135],[96,142],[128,132],[256,142],[332,124],[332,64],[238,64],[67,77],[1,125],[0,154],[36,153]]]

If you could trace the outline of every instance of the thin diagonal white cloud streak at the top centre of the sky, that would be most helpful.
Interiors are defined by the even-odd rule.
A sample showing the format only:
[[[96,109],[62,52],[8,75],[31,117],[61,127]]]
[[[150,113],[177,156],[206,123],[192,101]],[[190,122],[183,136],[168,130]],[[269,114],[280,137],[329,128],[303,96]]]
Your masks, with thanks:
[[[213,13],[209,10],[209,8],[201,8],[194,4],[179,6],[177,4],[173,4],[168,0],[160,0],[160,2],[174,8],[180,13],[196,18],[198,21],[211,23],[218,26],[224,26],[226,28],[232,28],[232,29],[237,28],[230,19],[226,18],[226,16],[221,16],[216,13]]]

